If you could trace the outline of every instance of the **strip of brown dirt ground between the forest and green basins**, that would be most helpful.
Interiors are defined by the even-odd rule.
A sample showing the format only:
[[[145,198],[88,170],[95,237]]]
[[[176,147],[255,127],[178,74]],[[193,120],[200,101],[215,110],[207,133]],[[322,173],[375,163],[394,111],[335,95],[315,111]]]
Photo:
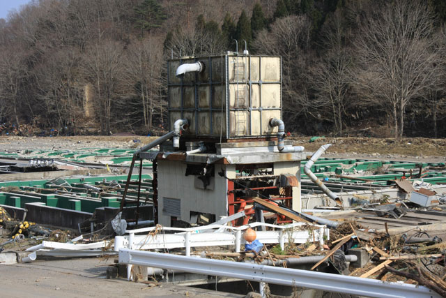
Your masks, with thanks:
[[[84,149],[84,148],[136,148],[155,140],[144,136],[75,136],[75,137],[16,137],[0,136],[0,151],[15,152],[25,149]],[[330,143],[325,156],[348,158],[380,158],[445,162],[446,139],[371,137],[326,137],[309,142],[309,137],[292,137],[295,145],[305,151],[316,151],[321,144]]]

